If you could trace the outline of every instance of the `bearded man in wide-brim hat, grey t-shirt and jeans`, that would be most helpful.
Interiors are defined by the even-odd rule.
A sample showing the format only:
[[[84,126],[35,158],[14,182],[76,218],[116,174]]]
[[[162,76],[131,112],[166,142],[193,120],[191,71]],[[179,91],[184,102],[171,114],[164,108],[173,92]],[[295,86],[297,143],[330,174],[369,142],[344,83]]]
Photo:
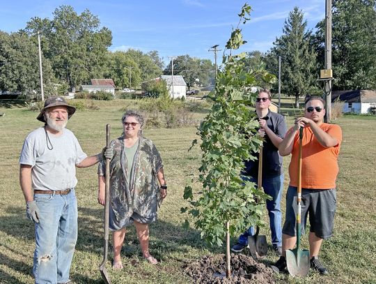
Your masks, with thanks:
[[[75,135],[65,128],[75,111],[64,98],[47,98],[37,117],[45,126],[27,135],[19,158],[26,216],[36,226],[36,283],[70,281],[77,241],[76,167],[90,167],[103,156],[112,156],[111,149],[89,157],[82,151]]]

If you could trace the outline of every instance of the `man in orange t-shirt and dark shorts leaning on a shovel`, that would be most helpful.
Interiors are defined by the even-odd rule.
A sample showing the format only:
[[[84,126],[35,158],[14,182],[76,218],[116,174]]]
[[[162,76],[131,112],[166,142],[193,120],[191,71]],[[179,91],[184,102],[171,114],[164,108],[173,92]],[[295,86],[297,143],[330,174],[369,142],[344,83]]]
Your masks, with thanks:
[[[309,215],[311,229],[308,235],[311,268],[325,275],[329,272],[320,263],[318,253],[323,239],[333,234],[336,211],[337,158],[342,141],[342,130],[335,124],[325,124],[324,100],[318,96],[306,99],[304,117],[295,120],[279,144],[279,154],[292,154],[289,166],[290,185],[286,193],[286,214],[282,230],[282,256],[272,266],[280,272],[286,268],[285,251],[295,247],[299,128],[303,130],[301,161],[301,232],[304,233]]]

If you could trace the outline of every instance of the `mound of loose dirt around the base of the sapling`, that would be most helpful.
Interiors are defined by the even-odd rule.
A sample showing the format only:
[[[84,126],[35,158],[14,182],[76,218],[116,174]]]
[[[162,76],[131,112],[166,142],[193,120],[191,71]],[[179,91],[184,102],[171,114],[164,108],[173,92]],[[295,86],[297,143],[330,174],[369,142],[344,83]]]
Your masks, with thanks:
[[[231,253],[231,274],[226,278],[226,255],[206,255],[193,263],[185,265],[184,271],[194,283],[272,283],[273,271],[252,257]]]

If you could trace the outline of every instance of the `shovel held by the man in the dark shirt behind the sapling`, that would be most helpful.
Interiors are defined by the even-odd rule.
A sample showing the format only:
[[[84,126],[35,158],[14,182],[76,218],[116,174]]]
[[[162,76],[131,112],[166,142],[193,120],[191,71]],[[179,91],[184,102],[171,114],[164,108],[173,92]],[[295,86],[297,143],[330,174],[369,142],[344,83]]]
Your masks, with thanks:
[[[260,146],[260,154],[258,157],[258,180],[257,187],[260,190],[263,188],[263,145]],[[258,199],[256,199],[258,203]],[[249,252],[254,260],[265,257],[267,255],[267,241],[266,236],[258,234],[260,227],[256,226],[256,234],[248,237]]]

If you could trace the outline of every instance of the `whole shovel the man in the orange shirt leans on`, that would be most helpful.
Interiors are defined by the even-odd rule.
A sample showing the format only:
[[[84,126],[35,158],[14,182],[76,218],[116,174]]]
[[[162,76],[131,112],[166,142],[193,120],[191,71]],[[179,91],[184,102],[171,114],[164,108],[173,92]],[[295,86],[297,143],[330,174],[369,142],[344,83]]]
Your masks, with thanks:
[[[298,188],[297,188],[297,247],[286,250],[286,262],[288,272],[292,276],[306,276],[311,264],[309,262],[309,251],[299,250],[301,234],[301,148],[303,140],[303,128],[299,129],[299,163],[298,163]]]

